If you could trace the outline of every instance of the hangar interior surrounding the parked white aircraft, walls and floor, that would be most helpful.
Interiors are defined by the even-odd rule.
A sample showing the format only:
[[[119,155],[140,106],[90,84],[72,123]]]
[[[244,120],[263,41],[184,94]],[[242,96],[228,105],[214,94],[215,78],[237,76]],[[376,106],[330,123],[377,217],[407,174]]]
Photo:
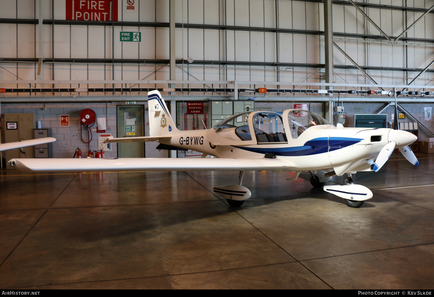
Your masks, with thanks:
[[[0,0],[1,143],[28,139],[11,122],[28,121],[30,138],[56,138],[47,151],[1,153],[0,287],[432,289],[433,4]],[[148,136],[155,89],[179,130],[286,109],[344,127],[384,115],[374,124],[391,128],[398,109],[400,129],[418,137],[419,166],[395,152],[378,172],[355,174],[374,196],[349,208],[305,180],[287,181],[292,172],[245,172],[252,197],[233,207],[213,187],[238,182],[237,171],[6,165],[40,152],[72,158],[78,147],[85,157],[107,135]],[[86,109],[105,125],[82,125]],[[105,158],[201,157],[158,142],[122,145]]]

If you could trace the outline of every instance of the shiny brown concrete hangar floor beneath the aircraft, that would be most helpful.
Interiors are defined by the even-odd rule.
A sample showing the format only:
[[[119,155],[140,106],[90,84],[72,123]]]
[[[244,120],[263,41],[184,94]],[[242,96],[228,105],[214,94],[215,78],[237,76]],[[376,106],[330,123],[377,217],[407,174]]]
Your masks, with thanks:
[[[361,208],[293,173],[1,172],[0,287],[433,289],[434,155],[392,155]],[[331,182],[342,183],[343,177]]]

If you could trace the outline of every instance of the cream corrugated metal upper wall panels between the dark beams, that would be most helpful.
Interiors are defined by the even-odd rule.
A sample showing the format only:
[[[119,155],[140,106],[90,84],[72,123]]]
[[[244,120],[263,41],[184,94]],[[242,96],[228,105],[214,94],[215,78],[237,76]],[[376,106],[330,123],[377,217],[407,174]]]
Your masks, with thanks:
[[[87,1],[87,0],[86,0]],[[76,0],[76,2],[79,2]],[[90,2],[90,1],[89,1]],[[95,2],[95,1],[94,1]],[[429,1],[369,0],[373,4],[429,8]],[[428,3],[429,2],[429,3]],[[0,0],[0,19],[35,20],[38,1]],[[43,0],[45,20],[65,20],[65,0]],[[169,22],[169,0],[135,0],[135,9],[127,10],[127,1],[118,0],[118,20],[128,22]],[[178,0],[176,23],[228,25],[256,28],[279,28],[322,31],[323,4],[291,0]],[[363,8],[389,36],[405,29],[405,16],[410,25],[422,15],[419,12]],[[276,10],[277,21],[276,21]],[[434,39],[434,15],[428,13],[408,31],[408,37]],[[154,26],[100,26],[45,24],[44,58],[72,59],[169,59],[169,28]],[[113,30],[113,32],[112,32]],[[140,31],[140,43],[120,42],[120,31]],[[333,31],[340,33],[381,34],[355,7],[333,5]],[[274,33],[260,30],[176,29],[176,58],[212,61],[247,61],[280,63],[324,63],[323,36],[305,33]],[[37,58],[38,25],[0,23],[0,58]],[[113,42],[114,36],[114,42]],[[359,65],[424,68],[434,59],[433,47],[404,46],[386,43],[335,42]],[[353,38],[354,39],[354,38]],[[278,47],[277,47],[278,46]],[[114,50],[114,51],[113,51]],[[334,63],[352,65],[334,50]],[[0,62],[0,79],[35,79],[37,63]],[[44,63],[44,79],[161,79],[168,80],[168,66],[124,63]],[[279,70],[279,72],[276,72]],[[323,82],[320,68],[193,65],[178,64],[176,79]],[[278,74],[279,73],[279,74]],[[378,83],[404,84],[405,71],[370,70]],[[409,72],[410,78],[415,72]],[[430,82],[433,73],[424,73],[418,84]],[[365,83],[368,80],[355,69],[335,69],[336,82]],[[3,87],[23,87],[5,85]],[[28,87],[28,86],[26,86]],[[77,87],[74,85],[55,87]],[[92,87],[104,87],[103,85]],[[19,93],[18,93],[19,94]]]

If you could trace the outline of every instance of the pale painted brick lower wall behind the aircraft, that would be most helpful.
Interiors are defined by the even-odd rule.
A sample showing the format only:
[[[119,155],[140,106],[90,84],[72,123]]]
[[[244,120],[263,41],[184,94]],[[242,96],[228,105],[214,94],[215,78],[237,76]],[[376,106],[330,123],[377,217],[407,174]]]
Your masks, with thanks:
[[[298,102],[296,102],[298,103]],[[181,104],[184,109],[185,104]],[[384,103],[343,103],[345,109],[345,127],[354,126],[355,114],[368,114],[376,113],[381,109]],[[285,109],[291,109],[294,106],[294,102],[255,102],[256,110],[265,110],[273,112],[282,112]],[[434,132],[434,126],[432,122],[424,121],[424,107],[433,107],[432,104],[420,104],[420,103],[403,103],[401,104],[408,112],[411,112],[420,122],[423,123],[428,129]],[[80,123],[79,113],[86,108],[92,109],[97,114],[97,117],[106,117],[107,126],[110,127],[107,133],[117,136],[116,132],[116,105],[109,103],[108,105],[108,117],[107,117],[107,105],[106,103],[46,103],[46,110],[43,110],[43,103],[2,103],[1,104],[1,118],[4,121],[5,113],[33,113],[36,121],[41,121],[42,128],[51,128],[52,136],[57,139],[53,143],[53,158],[71,158],[77,147],[82,149],[83,155],[87,155],[88,145],[83,143],[80,139]],[[148,106],[145,102],[145,135],[149,135],[149,118],[148,118]],[[181,125],[178,129],[184,127],[184,110],[181,110]],[[309,110],[322,115],[322,103],[311,102],[309,103]],[[391,114],[394,112],[394,107],[389,106],[382,113],[388,115],[388,121],[391,121]],[[69,115],[69,127],[60,126],[60,115]],[[176,114],[173,114],[174,119],[177,118]],[[434,119],[433,119],[434,120]],[[402,120],[401,120],[402,121]],[[413,122],[410,117],[406,116],[404,122]],[[2,122],[2,126],[3,122]],[[96,124],[93,126],[96,128]],[[4,133],[2,133],[4,134]],[[98,147],[98,133],[92,132],[93,140],[90,143],[90,149],[96,150]],[[3,136],[3,135],[2,135]],[[82,130],[82,137],[87,141],[87,131]],[[419,129],[419,140],[429,137],[423,129]],[[2,139],[4,142],[4,139]],[[157,142],[145,142],[145,156],[148,158],[165,158],[168,156],[168,151],[156,150]],[[105,157],[115,158],[117,157],[117,145],[112,145],[112,152],[106,152]]]

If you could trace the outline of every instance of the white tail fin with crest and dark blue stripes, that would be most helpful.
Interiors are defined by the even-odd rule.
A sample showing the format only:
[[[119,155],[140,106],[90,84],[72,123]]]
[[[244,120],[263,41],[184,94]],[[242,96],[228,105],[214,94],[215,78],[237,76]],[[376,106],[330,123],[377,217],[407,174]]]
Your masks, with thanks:
[[[169,135],[178,131],[169,110],[157,90],[148,92],[149,136]]]

